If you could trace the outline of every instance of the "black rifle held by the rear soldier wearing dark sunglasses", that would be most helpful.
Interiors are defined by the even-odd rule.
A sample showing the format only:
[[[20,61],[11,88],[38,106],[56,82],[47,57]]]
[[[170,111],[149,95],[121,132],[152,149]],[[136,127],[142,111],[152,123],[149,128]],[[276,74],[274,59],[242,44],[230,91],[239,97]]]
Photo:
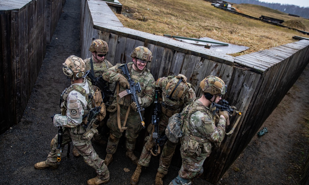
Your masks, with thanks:
[[[86,71],[86,74],[83,76],[84,78],[88,77],[92,83],[92,85],[97,86],[101,90],[103,102],[107,105],[111,96],[113,96],[113,92],[109,90],[108,82],[103,80],[103,77],[95,77],[90,70]],[[106,96],[105,96],[106,95]]]

